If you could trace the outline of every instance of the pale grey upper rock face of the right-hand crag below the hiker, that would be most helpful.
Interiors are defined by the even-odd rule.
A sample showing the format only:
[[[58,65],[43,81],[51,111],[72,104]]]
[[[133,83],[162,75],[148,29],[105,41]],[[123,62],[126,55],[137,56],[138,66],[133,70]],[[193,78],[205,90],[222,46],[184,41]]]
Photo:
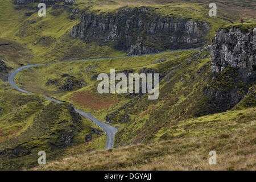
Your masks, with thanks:
[[[229,66],[237,69],[243,82],[256,79],[256,28],[242,31],[238,27],[221,29],[212,43],[214,76]]]

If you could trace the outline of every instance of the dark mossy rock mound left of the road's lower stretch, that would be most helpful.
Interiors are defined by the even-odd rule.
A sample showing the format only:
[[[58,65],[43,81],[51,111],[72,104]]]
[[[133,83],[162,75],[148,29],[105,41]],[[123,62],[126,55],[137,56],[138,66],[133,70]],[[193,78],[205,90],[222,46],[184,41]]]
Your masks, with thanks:
[[[66,109],[69,111],[69,115],[72,118],[69,121],[63,119],[63,121],[56,122],[54,119],[49,119],[49,115]],[[58,119],[60,115],[56,115],[55,117]],[[40,151],[40,148],[51,148],[51,151],[67,148],[74,143],[74,138],[81,132],[81,121],[82,118],[80,114],[76,113],[73,105],[63,104],[63,106],[61,106],[51,102],[38,114],[38,117],[34,119],[34,123],[28,130],[24,131],[18,137],[11,138],[0,144],[0,148],[6,145],[9,146],[9,148],[0,150],[0,160],[2,158],[14,159],[30,155],[35,152],[35,147],[38,148],[38,150],[36,150],[37,152]],[[52,129],[49,130],[47,126],[52,126]],[[53,130],[53,128],[55,128],[55,130]],[[36,133],[32,131],[36,131]],[[37,146],[33,145],[35,141],[38,142]],[[44,146],[44,144],[46,144],[46,146]]]

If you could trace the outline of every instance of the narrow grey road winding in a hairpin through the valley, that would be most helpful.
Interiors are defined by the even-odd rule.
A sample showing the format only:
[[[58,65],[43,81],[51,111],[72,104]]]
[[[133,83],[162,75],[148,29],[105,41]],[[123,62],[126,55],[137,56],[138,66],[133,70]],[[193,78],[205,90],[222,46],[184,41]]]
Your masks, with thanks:
[[[104,57],[104,58],[96,58],[96,59],[84,59],[84,60],[65,60],[65,61],[56,61],[54,63],[48,63],[48,64],[33,64],[33,65],[26,65],[23,67],[20,67],[18,69],[15,69],[13,72],[11,72],[9,74],[8,77],[8,82],[11,86],[13,86],[14,89],[23,92],[23,93],[27,93],[27,94],[34,94],[32,92],[28,92],[26,90],[20,89],[14,82],[14,78],[15,76],[22,71],[23,69],[27,69],[27,68],[31,68],[31,67],[39,67],[41,65],[49,65],[49,64],[55,64],[55,63],[64,63],[64,62],[74,62],[74,61],[90,61],[90,60],[104,60],[104,59],[113,59],[113,58],[123,58],[123,57],[138,57],[138,56],[146,56],[146,55],[156,55],[156,54],[162,54],[162,53],[168,53],[168,52],[177,52],[177,51],[185,51],[185,50],[191,50],[191,49],[199,49],[199,48],[189,48],[189,49],[179,49],[179,50],[175,50],[175,51],[166,51],[166,52],[159,52],[159,53],[149,53],[149,54],[144,54],[144,55],[131,55],[131,56],[119,56],[119,57]],[[46,98],[49,101],[52,102],[56,102],[57,104],[62,104],[63,102],[58,101],[54,98],[51,97],[47,97],[47,96],[43,96],[44,98]],[[82,116],[90,119],[94,124],[96,124],[98,127],[100,127],[102,130],[104,130],[104,132],[106,133],[107,136],[107,142],[106,142],[106,147],[105,149],[108,150],[110,148],[113,148],[113,144],[114,144],[114,137],[115,137],[115,133],[117,133],[117,129],[113,126],[107,125],[104,122],[99,121],[98,119],[94,118],[90,113],[84,113],[83,111],[76,109],[75,111],[79,114],[81,114]]]

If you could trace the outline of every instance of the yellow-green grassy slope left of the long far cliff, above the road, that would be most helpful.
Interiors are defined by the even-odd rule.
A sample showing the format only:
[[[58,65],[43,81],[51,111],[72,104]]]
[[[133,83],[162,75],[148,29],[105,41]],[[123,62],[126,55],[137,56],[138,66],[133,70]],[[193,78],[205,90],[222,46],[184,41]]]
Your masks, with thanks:
[[[35,5],[34,5],[35,6]],[[15,10],[11,0],[0,2],[0,37],[15,40],[24,45],[32,54],[24,63],[42,63],[65,59],[84,59],[89,57],[117,56],[123,53],[109,47],[85,44],[69,38],[71,28],[78,23],[68,19],[70,13],[61,10],[55,15],[51,7],[46,17],[39,17],[37,11],[26,16],[31,10]],[[47,9],[48,10],[48,9]]]

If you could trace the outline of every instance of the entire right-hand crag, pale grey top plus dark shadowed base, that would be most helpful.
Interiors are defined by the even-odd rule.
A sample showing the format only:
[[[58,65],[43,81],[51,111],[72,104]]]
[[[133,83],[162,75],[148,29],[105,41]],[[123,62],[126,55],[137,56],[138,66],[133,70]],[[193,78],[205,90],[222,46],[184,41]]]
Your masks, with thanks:
[[[213,81],[204,89],[200,115],[232,109],[256,84],[255,46],[256,28],[233,26],[217,32],[211,50]]]

